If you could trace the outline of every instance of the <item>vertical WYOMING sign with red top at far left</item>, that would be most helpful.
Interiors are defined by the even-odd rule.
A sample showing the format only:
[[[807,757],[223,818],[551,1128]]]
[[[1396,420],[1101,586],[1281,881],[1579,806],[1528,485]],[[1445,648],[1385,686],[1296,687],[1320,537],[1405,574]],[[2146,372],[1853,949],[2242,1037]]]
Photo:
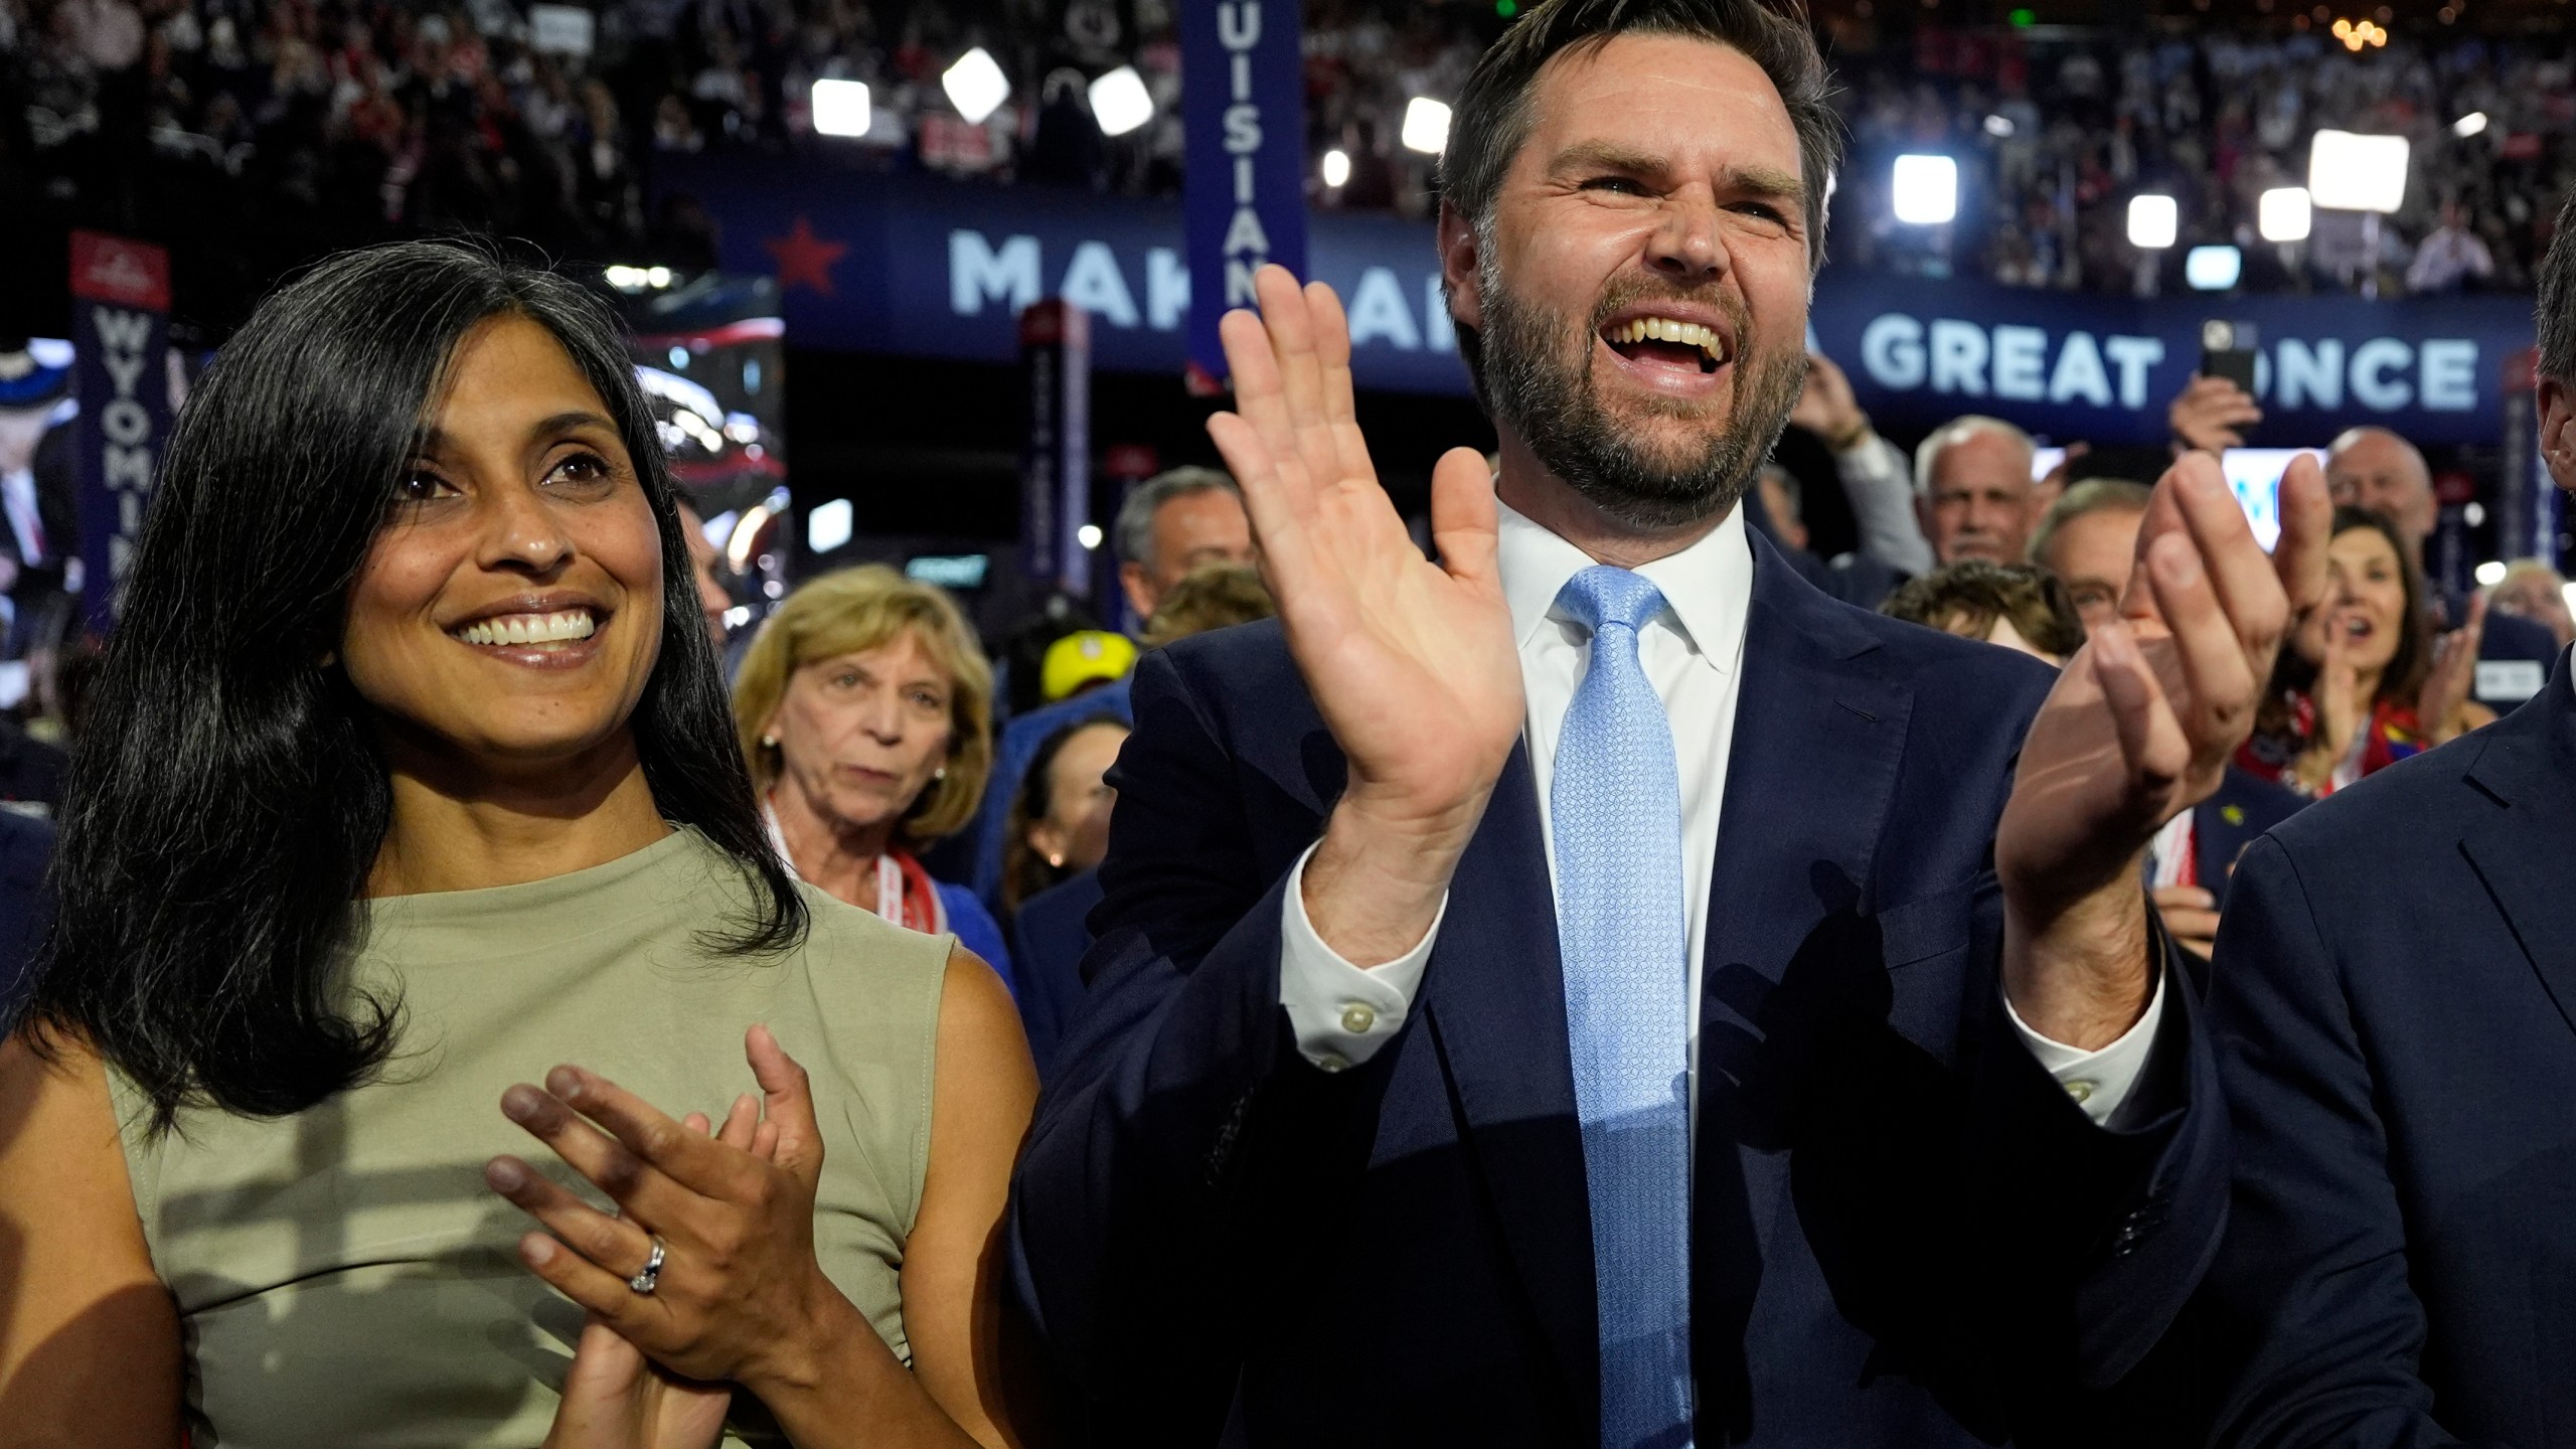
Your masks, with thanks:
[[[106,634],[170,438],[170,253],[72,232],[72,351],[80,593],[90,629]]]

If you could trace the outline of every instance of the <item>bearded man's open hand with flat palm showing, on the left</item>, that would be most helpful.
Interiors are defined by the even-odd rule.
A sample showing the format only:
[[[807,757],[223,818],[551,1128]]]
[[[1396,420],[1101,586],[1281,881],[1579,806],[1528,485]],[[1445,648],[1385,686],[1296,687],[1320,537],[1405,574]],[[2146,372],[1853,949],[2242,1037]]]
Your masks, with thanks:
[[[1342,302],[1280,266],[1255,294],[1260,315],[1218,325],[1234,413],[1208,418],[1208,436],[1244,490],[1288,652],[1350,758],[1306,905],[1327,944],[1370,964],[1427,931],[1520,737],[1494,485],[1473,449],[1440,459],[1440,559],[1425,559],[1352,415]]]

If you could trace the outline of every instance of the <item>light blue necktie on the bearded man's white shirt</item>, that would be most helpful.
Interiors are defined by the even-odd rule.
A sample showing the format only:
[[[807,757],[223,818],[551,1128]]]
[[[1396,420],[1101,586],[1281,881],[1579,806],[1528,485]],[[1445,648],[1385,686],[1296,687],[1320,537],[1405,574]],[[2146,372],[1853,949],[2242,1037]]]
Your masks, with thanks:
[[[1618,567],[1566,580],[1592,629],[1548,786],[1574,1106],[1592,1199],[1602,1449],[1690,1444],[1690,944],[1672,719],[1636,634],[1662,590]]]

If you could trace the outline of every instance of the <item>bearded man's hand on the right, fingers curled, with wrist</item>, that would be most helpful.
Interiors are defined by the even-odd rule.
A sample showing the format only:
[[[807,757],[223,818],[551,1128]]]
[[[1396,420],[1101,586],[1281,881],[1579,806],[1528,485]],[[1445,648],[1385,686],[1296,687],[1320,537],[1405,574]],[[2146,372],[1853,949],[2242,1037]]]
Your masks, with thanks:
[[[2272,657],[2326,580],[2331,505],[2313,459],[2280,482],[2264,557],[2208,454],[2184,454],[2138,529],[2120,619],[2069,660],[2030,724],[1996,830],[2004,990],[2035,1031],[2105,1047],[2154,985],[2138,859],[2208,799],[2254,730]]]

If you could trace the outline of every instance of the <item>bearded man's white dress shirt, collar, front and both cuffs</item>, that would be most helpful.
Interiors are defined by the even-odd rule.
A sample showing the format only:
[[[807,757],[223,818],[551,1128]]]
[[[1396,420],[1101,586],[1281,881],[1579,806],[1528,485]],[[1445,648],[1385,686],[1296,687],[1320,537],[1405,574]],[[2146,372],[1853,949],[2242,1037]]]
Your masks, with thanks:
[[[1530,745],[1530,771],[1538,786],[1538,835],[1548,853],[1548,879],[1556,879],[1556,833],[1548,786],[1556,779],[1556,735],[1566,706],[1592,660],[1592,639],[1582,624],[1556,608],[1556,593],[1592,557],[1566,539],[1499,505],[1497,565],[1502,596],[1512,611],[1512,637],[1520,645],[1520,688],[1528,699],[1522,737]],[[1736,694],[1744,683],[1744,624],[1754,593],[1754,557],[1744,536],[1744,513],[1726,521],[1698,544],[1654,559],[1636,572],[1664,593],[1664,611],[1638,632],[1638,663],[1672,719],[1674,763],[1682,784],[1682,892],[1690,923],[1690,1098],[1698,1104],[1700,1065],[1700,957],[1708,946],[1708,890],[1718,859],[1718,807],[1726,799],[1726,761],[1734,750]],[[1314,848],[1309,846],[1309,856]],[[1298,1052],[1329,1073],[1373,1057],[1412,1013],[1440,915],[1412,951],[1378,967],[1345,962],[1306,918],[1306,861],[1298,859],[1280,908],[1280,1003],[1296,1031]],[[2099,1052],[2050,1042],[2012,1013],[2014,1029],[2084,1111],[2102,1122],[2136,1085],[2164,1008],[2164,985],[2146,1018]],[[2009,1011],[2009,1003],[2007,1003]]]

